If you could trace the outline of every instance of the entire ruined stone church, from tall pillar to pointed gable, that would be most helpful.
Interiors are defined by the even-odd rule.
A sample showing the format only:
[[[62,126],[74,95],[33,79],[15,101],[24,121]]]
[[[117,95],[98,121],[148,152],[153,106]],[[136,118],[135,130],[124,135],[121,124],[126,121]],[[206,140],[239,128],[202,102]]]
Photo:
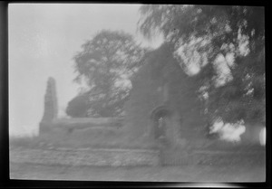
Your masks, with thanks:
[[[190,82],[171,56],[170,46],[165,44],[151,53],[132,79],[131,99],[125,104],[124,118],[58,118],[55,81],[49,78],[40,134],[55,128],[71,132],[101,126],[121,128],[129,140],[144,139],[155,146],[159,132],[171,146],[185,146],[190,138],[203,135],[197,131],[202,119]]]

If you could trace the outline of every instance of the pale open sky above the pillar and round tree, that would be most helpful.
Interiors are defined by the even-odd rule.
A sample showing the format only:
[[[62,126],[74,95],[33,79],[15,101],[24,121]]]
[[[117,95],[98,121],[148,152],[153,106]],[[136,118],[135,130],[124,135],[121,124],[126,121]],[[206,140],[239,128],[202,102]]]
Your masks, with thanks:
[[[73,55],[102,29],[136,33],[140,5],[15,4],[9,5],[9,130],[11,135],[34,134],[44,113],[49,76],[56,80],[59,109],[77,94]]]

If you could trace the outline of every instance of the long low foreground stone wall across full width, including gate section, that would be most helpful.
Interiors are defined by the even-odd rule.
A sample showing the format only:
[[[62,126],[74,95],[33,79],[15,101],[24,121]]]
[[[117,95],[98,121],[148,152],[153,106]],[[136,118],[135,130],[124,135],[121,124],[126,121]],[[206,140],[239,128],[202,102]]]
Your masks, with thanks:
[[[211,151],[192,153],[143,149],[10,149],[10,163],[42,165],[266,165],[265,151]]]

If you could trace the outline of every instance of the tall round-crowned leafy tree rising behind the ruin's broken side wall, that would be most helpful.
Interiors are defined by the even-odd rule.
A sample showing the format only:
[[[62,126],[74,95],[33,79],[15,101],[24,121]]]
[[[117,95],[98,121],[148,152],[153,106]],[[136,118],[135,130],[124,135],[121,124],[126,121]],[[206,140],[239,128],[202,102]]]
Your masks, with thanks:
[[[83,43],[74,56],[75,81],[86,81],[89,116],[120,116],[131,90],[130,78],[141,66],[146,49],[131,34],[102,30]]]

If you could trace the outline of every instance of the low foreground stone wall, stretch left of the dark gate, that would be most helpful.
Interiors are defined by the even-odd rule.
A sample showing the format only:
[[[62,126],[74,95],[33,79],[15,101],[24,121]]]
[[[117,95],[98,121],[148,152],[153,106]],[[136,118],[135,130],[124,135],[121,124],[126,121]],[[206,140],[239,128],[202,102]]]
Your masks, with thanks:
[[[156,150],[137,149],[10,149],[10,162],[43,165],[158,165]]]

